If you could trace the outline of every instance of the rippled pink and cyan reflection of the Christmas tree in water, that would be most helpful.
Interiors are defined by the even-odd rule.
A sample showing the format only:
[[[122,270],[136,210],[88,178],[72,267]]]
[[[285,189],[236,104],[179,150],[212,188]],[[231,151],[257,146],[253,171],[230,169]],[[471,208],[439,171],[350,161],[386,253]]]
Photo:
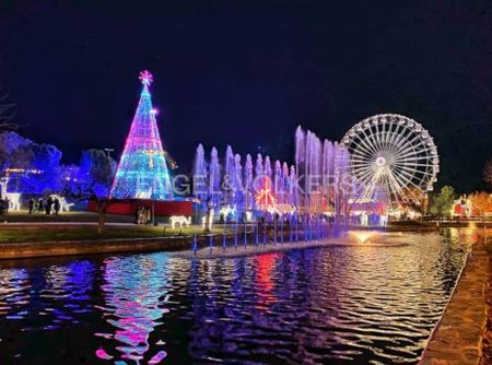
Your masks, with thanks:
[[[156,337],[151,341],[150,334],[163,325],[161,319],[169,311],[166,303],[172,271],[172,261],[166,255],[116,257],[104,261],[105,283],[101,289],[106,306],[98,309],[115,331],[96,332],[103,339],[96,350],[98,358],[121,357],[139,363],[151,356],[150,363],[157,364],[166,356],[167,353],[161,349],[164,344],[162,339]],[[105,350],[114,348],[114,343],[105,344],[114,340],[119,354]],[[148,354],[151,346],[155,350]]]

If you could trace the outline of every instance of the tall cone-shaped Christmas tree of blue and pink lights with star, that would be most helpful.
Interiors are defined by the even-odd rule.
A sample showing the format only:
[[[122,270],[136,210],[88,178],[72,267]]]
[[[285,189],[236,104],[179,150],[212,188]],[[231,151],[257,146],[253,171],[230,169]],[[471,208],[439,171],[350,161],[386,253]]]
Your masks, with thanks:
[[[110,192],[112,198],[173,199],[169,173],[152,108],[152,74],[140,72],[143,84]]]

